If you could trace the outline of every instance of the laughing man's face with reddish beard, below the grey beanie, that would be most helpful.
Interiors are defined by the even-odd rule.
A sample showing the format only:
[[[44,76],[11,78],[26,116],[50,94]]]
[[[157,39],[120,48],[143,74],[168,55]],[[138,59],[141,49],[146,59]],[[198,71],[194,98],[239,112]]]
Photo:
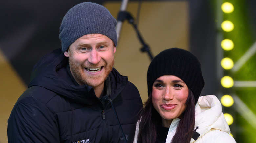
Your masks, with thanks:
[[[79,85],[104,84],[114,65],[116,47],[102,34],[87,34],[73,42],[64,53],[69,57],[71,73]]]

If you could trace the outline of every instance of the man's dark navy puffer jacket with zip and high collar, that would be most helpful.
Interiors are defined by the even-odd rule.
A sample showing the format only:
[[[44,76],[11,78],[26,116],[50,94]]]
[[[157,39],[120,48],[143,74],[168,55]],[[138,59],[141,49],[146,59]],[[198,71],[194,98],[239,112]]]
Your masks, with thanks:
[[[9,143],[124,142],[110,103],[104,108],[92,87],[74,85],[67,64],[68,58],[57,49],[34,66],[29,88],[8,119]],[[128,142],[133,142],[142,108],[139,92],[114,68],[109,78],[111,100]]]

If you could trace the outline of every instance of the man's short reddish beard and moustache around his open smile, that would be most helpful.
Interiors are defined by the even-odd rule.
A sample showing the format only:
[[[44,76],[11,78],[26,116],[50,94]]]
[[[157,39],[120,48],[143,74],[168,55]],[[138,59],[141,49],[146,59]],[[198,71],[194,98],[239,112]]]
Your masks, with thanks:
[[[92,75],[87,73],[85,67],[98,67],[97,65],[85,65],[84,63],[79,64],[77,63],[73,58],[72,54],[69,57],[69,65],[70,65],[70,70],[75,78],[76,82],[80,85],[88,85],[91,87],[98,87],[101,84],[104,84],[105,80],[107,79],[108,75],[112,71],[112,68],[114,66],[114,58],[112,58],[108,63],[101,59],[103,64],[101,64],[101,67],[103,66],[104,70],[100,75]]]

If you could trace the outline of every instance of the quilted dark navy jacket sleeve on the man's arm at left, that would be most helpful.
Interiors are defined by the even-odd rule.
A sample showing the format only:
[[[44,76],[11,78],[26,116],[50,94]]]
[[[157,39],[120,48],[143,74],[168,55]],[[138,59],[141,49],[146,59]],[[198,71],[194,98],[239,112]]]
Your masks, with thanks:
[[[8,119],[7,136],[9,143],[60,142],[56,118],[43,103],[32,97],[15,104]]]

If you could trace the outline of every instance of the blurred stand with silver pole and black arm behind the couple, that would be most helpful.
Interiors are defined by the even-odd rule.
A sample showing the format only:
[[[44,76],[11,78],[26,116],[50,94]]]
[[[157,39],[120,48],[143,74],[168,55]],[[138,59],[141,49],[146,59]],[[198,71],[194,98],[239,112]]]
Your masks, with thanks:
[[[139,41],[140,43],[143,45],[142,48],[140,48],[141,52],[147,52],[148,53],[148,56],[150,58],[150,60],[153,59],[153,56],[151,54],[151,51],[150,51],[150,48],[149,46],[144,42],[138,28],[137,28],[137,24],[134,23],[134,18],[132,17],[132,15],[125,11],[126,9],[126,5],[127,5],[127,2],[128,0],[123,0],[122,1],[122,5],[121,5],[121,8],[120,8],[120,12],[118,13],[118,16],[117,16],[117,26],[116,26],[116,31],[117,31],[117,41],[118,41],[118,38],[119,38],[119,34],[120,34],[120,30],[121,30],[121,26],[122,26],[122,23],[124,20],[128,20],[128,22],[130,24],[133,25],[133,28],[135,29],[136,33],[137,33],[137,36],[139,38]]]

